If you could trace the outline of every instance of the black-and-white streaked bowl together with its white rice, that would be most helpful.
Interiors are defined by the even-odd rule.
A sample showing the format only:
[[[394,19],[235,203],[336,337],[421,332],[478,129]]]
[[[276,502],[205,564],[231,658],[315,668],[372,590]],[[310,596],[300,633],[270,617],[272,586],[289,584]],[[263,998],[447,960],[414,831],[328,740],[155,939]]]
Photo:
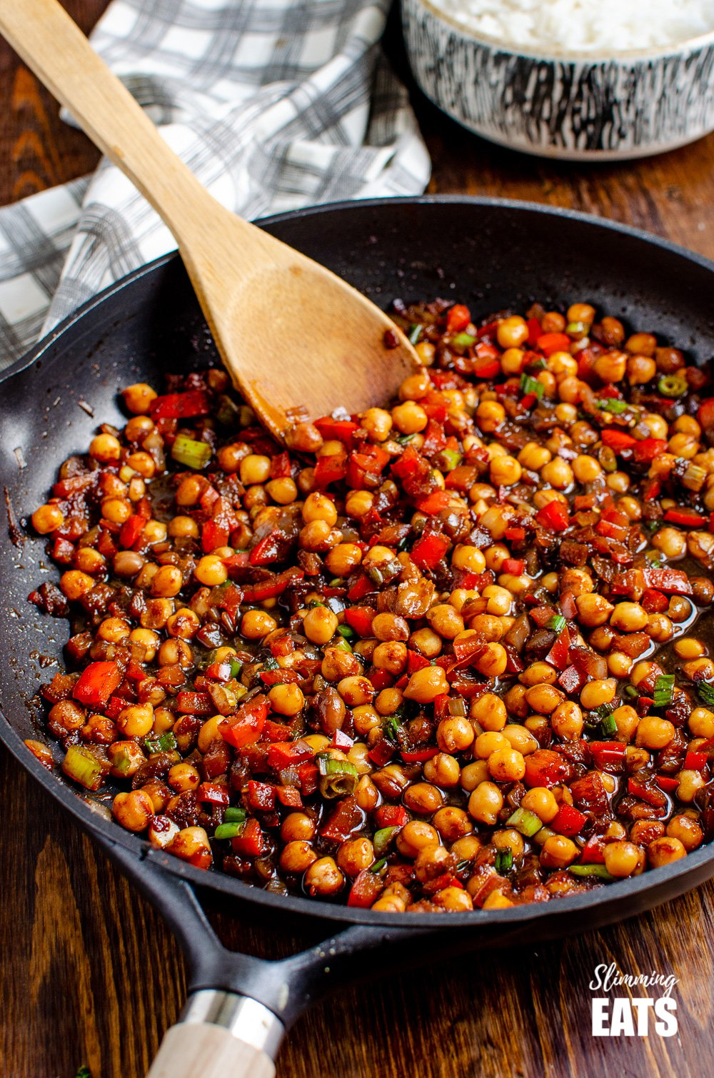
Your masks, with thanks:
[[[401,0],[414,78],[483,138],[571,161],[714,130],[714,0]]]

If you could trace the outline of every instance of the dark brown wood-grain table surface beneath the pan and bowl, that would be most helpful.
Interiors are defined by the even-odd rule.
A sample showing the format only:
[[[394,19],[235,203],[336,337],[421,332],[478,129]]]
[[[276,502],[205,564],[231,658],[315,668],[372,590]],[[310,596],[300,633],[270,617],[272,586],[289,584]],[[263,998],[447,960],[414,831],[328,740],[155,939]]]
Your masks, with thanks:
[[[67,0],[88,29],[106,0]],[[526,198],[624,221],[714,258],[714,137],[624,165],[553,164],[491,147],[417,100],[430,190]],[[88,171],[97,154],[0,46],[0,203]],[[141,1078],[184,998],[182,958],[153,910],[10,761],[2,774],[0,1059],[8,1078]],[[655,913],[533,951],[374,981],[310,1011],[282,1078],[689,1078],[714,1056],[714,884]],[[226,916],[228,945],[270,944]],[[583,925],[583,927],[586,927]],[[679,978],[679,1035],[593,1038],[594,967]],[[596,993],[595,993],[596,994]],[[617,992],[615,993],[617,994]],[[624,993],[623,993],[624,994]],[[657,994],[657,993],[656,993]],[[357,1021],[357,1015],[359,1020]],[[228,1076],[226,1076],[228,1078]]]

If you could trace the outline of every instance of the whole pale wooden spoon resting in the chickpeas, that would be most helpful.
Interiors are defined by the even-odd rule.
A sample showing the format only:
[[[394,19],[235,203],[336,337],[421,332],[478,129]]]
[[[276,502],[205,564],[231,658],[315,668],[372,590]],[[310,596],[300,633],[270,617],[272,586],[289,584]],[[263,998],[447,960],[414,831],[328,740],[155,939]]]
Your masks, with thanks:
[[[0,31],[170,229],[223,362],[273,434],[284,438],[291,409],[316,418],[395,395],[418,363],[403,333],[324,266],[217,203],[57,0],[0,0]],[[396,347],[385,347],[387,330]]]

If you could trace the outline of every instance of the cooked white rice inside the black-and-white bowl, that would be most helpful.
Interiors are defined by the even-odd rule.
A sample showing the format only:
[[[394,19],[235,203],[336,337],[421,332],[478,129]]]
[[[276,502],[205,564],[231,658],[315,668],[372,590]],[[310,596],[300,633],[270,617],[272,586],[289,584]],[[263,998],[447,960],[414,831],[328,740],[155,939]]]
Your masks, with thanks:
[[[431,0],[477,36],[528,53],[674,45],[714,30],[714,0]]]

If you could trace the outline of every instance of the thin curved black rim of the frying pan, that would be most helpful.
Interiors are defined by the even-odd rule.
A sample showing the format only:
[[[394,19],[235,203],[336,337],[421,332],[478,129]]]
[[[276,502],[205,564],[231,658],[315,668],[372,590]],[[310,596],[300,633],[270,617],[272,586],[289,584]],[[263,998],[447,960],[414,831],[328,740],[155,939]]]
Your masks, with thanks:
[[[544,206],[539,203],[516,201],[507,198],[482,197],[472,195],[422,195],[417,197],[399,196],[394,198],[371,198],[363,201],[348,201],[326,203],[320,206],[311,206],[303,209],[290,210],[284,213],[272,215],[263,218],[257,223],[261,227],[272,227],[292,220],[324,216],[327,213],[342,212],[345,210],[359,210],[361,208],[371,210],[374,208],[390,205],[408,206],[429,206],[429,205],[457,205],[464,207],[483,207],[504,210],[517,210],[519,212],[536,213],[541,217],[565,219],[576,221],[581,224],[592,225],[600,230],[630,236],[639,239],[649,247],[656,247],[663,251],[676,254],[686,259],[714,274],[714,261],[690,251],[681,245],[669,239],[655,236],[641,229],[634,229],[616,221],[607,221],[592,213],[581,213],[563,207]],[[97,295],[84,303],[78,310],[55,327],[45,337],[43,337],[25,356],[20,357],[5,371],[0,373],[0,386],[30,368],[38,359],[50,349],[58,340],[63,338],[73,328],[75,328],[85,316],[100,307],[111,295],[122,291],[129,284],[140,279],[142,276],[152,274],[162,265],[166,265],[178,258],[177,252],[169,252],[153,260],[147,265],[140,266],[115,281]],[[626,913],[635,914],[649,908],[645,898],[643,903],[635,900],[639,896],[646,896],[649,892],[664,889],[673,881],[687,876],[696,876],[697,882],[692,886],[698,886],[705,879],[714,875],[714,843],[703,845],[694,853],[688,854],[681,861],[664,866],[658,869],[649,869],[640,876],[629,880],[618,881],[608,884],[606,887],[599,887],[592,892],[585,892],[566,898],[559,898],[548,902],[533,902],[525,906],[512,907],[504,910],[473,910],[465,913],[451,913],[449,916],[437,916],[434,913],[403,914],[373,912],[354,907],[337,906],[315,899],[303,898],[296,895],[276,895],[263,890],[257,886],[247,884],[223,872],[205,872],[193,868],[186,861],[169,855],[154,851],[148,842],[125,831],[111,819],[105,818],[104,814],[94,807],[88,799],[84,799],[66,783],[57,772],[47,772],[36,757],[26,748],[19,734],[14,730],[5,716],[0,711],[0,740],[11,751],[20,765],[37,779],[42,787],[58,801],[80,824],[87,833],[97,839],[100,846],[120,846],[131,853],[137,859],[137,874],[140,874],[142,863],[156,865],[170,875],[186,880],[201,890],[207,889],[219,894],[238,898],[242,901],[261,906],[267,910],[283,911],[286,914],[296,914],[301,917],[321,920],[345,927],[361,925],[375,928],[414,928],[414,929],[437,929],[437,928],[488,928],[489,926],[500,926],[507,929],[509,926],[516,929],[536,921],[551,920],[558,913],[577,914],[596,910],[603,907],[616,907],[619,903],[632,906],[633,909]],[[706,871],[706,869],[709,871]],[[689,889],[687,887],[683,890]],[[563,918],[558,918],[564,920]],[[608,920],[620,920],[618,912],[613,912]],[[587,927],[587,924],[582,927]]]

